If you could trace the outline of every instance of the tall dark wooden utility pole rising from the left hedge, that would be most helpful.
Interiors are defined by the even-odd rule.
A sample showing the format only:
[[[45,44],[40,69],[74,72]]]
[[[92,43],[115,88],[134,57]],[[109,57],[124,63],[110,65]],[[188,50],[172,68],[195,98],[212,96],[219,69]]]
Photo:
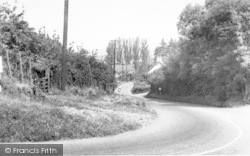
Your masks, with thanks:
[[[63,50],[62,50],[62,73],[61,73],[61,90],[65,91],[66,85],[66,53],[68,37],[68,8],[69,0],[64,1],[64,25],[63,25]]]

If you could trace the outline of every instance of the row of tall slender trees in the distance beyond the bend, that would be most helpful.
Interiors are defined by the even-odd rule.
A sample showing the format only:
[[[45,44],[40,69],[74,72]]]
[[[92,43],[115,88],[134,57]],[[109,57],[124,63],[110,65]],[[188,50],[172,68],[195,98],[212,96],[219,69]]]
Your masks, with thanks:
[[[116,46],[115,46],[116,43]],[[127,73],[127,66],[133,64],[135,73],[134,76],[141,77],[147,73],[149,69],[150,51],[146,39],[121,39],[111,41],[106,48],[105,62],[108,64],[110,70],[114,65],[114,53],[116,54],[116,64],[125,65],[124,72]]]

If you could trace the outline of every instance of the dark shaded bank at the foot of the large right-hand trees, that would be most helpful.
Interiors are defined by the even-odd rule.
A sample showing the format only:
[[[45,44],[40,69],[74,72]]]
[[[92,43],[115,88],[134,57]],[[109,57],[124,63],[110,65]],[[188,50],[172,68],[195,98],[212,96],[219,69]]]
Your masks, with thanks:
[[[162,99],[167,101],[174,101],[174,102],[183,102],[183,103],[191,103],[197,105],[206,105],[206,106],[213,106],[213,107],[240,107],[247,105],[248,103],[244,102],[241,97],[231,97],[229,100],[225,102],[220,102],[216,100],[216,97],[213,96],[168,96],[168,95],[158,95],[149,93],[147,98],[154,98],[154,99]]]

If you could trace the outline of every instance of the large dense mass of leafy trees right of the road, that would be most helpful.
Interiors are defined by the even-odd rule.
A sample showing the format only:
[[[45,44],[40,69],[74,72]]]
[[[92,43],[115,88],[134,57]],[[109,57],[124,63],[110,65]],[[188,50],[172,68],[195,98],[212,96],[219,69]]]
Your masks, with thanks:
[[[247,0],[187,5],[177,25],[180,39],[156,49],[165,67],[163,77],[150,78],[152,93],[161,86],[169,97],[210,96],[221,106],[230,98],[249,102],[249,8]]]

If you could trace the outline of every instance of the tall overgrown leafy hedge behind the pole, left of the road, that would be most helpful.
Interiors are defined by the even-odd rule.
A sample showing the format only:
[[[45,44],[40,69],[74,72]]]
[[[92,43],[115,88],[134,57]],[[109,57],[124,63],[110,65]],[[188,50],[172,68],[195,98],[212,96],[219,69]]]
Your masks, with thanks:
[[[49,36],[45,29],[36,32],[23,16],[24,12],[17,12],[15,7],[0,5],[0,48],[5,72],[20,82],[31,82],[33,70],[40,72],[49,68],[50,86],[59,87],[62,53],[59,37]],[[83,47],[73,47],[70,44],[67,49],[67,85],[96,86],[107,91],[115,85],[112,72],[97,60],[96,53],[90,55]]]

